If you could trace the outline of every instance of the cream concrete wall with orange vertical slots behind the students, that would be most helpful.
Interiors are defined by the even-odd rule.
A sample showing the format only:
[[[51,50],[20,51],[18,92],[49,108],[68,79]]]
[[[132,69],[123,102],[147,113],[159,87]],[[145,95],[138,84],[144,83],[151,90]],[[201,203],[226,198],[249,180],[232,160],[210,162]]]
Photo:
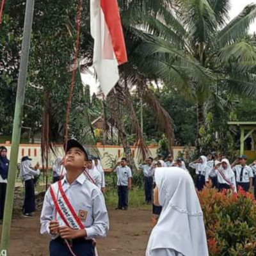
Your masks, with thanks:
[[[10,144],[1,144],[4,145],[8,149],[8,158],[10,159],[10,149],[11,146]],[[0,146],[1,146],[0,145]],[[63,146],[56,146],[55,148],[57,157],[63,157]],[[102,158],[102,165],[104,169],[108,169],[109,166],[109,158],[108,156],[111,156],[112,159],[118,158],[120,159],[121,157],[124,156],[124,149],[122,146],[97,146],[97,149],[99,150],[100,157]],[[140,163],[140,157],[138,157],[138,148],[136,147],[131,147],[132,149],[132,155],[134,156],[136,164]],[[152,157],[157,156],[157,147],[149,147],[150,149],[150,154]],[[174,159],[176,159],[179,156],[180,152],[184,152],[185,148],[184,147],[173,147],[173,156]],[[40,144],[20,144],[19,147],[19,159],[18,163],[20,163],[21,158],[23,156],[29,156],[33,159],[32,163],[35,165],[37,162],[40,163],[40,166],[42,166],[42,157],[41,157],[41,146]],[[49,165],[52,166],[54,163],[56,157],[51,154],[50,160],[49,160]]]

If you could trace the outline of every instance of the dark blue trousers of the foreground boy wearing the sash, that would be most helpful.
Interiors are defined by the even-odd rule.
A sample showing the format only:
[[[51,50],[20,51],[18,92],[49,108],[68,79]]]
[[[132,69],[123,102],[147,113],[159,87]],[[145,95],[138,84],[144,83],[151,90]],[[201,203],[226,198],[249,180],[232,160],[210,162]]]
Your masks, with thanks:
[[[77,239],[72,243],[72,251],[76,256],[94,256],[94,246],[91,241]],[[50,256],[71,256],[67,244],[63,239],[57,238],[52,240],[49,246]]]

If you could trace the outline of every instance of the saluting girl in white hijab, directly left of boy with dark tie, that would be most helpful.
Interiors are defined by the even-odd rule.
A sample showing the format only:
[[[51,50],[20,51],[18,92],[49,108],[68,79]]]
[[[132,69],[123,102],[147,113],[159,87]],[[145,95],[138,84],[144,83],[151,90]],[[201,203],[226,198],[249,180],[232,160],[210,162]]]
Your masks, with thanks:
[[[222,159],[216,162],[215,172],[218,177],[218,189],[233,189],[236,193],[236,176],[233,172],[228,159]]]

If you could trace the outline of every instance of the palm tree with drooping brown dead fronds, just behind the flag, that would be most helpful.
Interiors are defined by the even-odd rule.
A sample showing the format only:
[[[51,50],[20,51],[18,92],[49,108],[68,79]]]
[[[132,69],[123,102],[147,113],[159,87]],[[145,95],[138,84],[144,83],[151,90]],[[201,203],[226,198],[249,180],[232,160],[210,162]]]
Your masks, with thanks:
[[[169,140],[170,149],[173,145],[173,121],[167,111],[162,108],[159,101],[154,97],[148,88],[148,81],[154,79],[155,77],[150,76],[138,69],[136,65],[136,58],[138,54],[135,49],[142,42],[146,42],[148,35],[140,30],[140,26],[147,26],[147,20],[141,19],[143,13],[145,12],[161,12],[160,9],[163,8],[164,4],[169,4],[169,1],[146,1],[146,0],[133,0],[133,1],[119,1],[119,6],[121,8],[121,17],[124,26],[125,42],[127,44],[127,54],[129,63],[125,64],[120,68],[120,83],[115,87],[115,90],[109,94],[108,106],[111,111],[113,118],[116,120],[116,126],[119,130],[120,139],[124,147],[125,156],[127,157],[132,168],[136,170],[136,165],[131,154],[131,147],[127,140],[127,133],[125,132],[124,118],[122,116],[122,107],[129,109],[132,118],[132,124],[134,124],[134,131],[138,141],[138,147],[141,152],[143,159],[148,156],[148,148],[143,138],[141,132],[140,122],[134,111],[132,105],[131,95],[129,92],[130,88],[136,87],[138,91],[141,92],[143,99],[150,108],[156,109],[156,119],[159,126],[166,133]],[[86,71],[90,65],[92,65],[92,46],[86,46],[88,51],[86,51],[86,63],[84,63],[81,68],[82,72]],[[106,115],[105,115],[106,116]]]

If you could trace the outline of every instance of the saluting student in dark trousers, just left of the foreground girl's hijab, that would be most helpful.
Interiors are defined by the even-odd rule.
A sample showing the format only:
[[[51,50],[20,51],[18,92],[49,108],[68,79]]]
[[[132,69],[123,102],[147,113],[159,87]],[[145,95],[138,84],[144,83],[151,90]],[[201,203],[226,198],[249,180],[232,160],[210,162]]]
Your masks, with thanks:
[[[147,204],[152,204],[153,177],[150,172],[152,162],[153,162],[152,157],[148,157],[146,163],[140,165],[140,168],[143,171],[143,176],[144,176],[145,202]]]

